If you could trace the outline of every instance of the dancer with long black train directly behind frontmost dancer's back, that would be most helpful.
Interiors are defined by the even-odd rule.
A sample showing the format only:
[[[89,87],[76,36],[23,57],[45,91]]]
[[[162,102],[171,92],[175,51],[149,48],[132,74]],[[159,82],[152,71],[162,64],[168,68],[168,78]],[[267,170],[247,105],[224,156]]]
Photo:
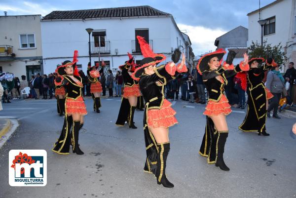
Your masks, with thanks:
[[[134,124],[134,114],[137,107],[137,97],[141,95],[139,85],[132,79],[132,72],[135,71],[134,57],[128,53],[129,60],[124,65],[119,66],[124,82],[123,97],[116,120],[116,125],[123,126],[125,121],[130,128],[136,129]]]

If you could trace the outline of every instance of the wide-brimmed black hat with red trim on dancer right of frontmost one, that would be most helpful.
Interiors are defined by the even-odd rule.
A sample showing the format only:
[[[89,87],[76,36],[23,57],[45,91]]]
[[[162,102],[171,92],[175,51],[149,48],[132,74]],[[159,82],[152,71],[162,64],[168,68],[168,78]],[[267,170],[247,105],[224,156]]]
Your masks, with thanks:
[[[225,53],[226,51],[220,48],[214,52],[203,55],[196,65],[198,73],[202,74],[204,71],[208,71],[210,69],[208,63],[210,62],[211,58],[218,57],[218,60],[221,61]]]

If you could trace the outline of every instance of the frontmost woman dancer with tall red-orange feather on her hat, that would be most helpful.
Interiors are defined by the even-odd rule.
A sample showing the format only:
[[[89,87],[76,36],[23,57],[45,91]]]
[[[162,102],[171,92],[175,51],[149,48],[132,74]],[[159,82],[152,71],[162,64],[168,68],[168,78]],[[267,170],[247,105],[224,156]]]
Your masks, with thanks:
[[[171,103],[164,97],[164,86],[169,80],[175,79],[181,72],[186,72],[185,56],[176,67],[181,52],[175,50],[172,59],[166,65],[156,67],[165,60],[163,54],[155,54],[143,37],[137,36],[144,59],[141,66],[133,73],[133,78],[139,80],[139,85],[145,103],[144,136],[146,143],[146,162],[144,171],[155,175],[157,184],[172,188],[174,185],[166,177],[166,161],[170,151],[169,127],[178,123],[176,112]],[[177,70],[177,72],[176,72]]]

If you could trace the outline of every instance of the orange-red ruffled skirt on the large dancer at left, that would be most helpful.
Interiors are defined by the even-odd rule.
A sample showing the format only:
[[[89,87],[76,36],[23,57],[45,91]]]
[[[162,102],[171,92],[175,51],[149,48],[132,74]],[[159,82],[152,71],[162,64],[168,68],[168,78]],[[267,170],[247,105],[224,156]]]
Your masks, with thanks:
[[[68,115],[80,114],[86,115],[86,106],[84,104],[82,96],[79,96],[77,99],[67,98],[66,99],[66,112]]]

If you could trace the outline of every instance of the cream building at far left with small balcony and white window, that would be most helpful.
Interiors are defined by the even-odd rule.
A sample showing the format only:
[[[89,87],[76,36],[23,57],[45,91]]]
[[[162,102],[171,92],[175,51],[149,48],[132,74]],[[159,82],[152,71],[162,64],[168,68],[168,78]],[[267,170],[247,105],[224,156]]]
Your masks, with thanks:
[[[41,15],[0,16],[0,72],[42,73]]]

